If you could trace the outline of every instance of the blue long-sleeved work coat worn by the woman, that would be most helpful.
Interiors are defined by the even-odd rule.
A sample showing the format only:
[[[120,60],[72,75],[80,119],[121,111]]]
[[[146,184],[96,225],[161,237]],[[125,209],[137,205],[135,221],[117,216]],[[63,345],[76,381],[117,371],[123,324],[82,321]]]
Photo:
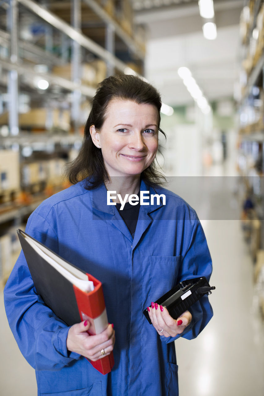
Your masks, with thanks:
[[[8,321],[17,344],[36,370],[38,395],[176,396],[174,341],[160,336],[142,311],[181,280],[206,276],[212,264],[195,211],[176,194],[140,207],[134,239],[105,185],[88,191],[84,181],[48,198],[31,214],[26,232],[103,285],[108,320],[114,324],[115,366],[102,375],[69,352],[69,327],[36,294],[23,252],[4,289]],[[182,337],[193,339],[212,317],[208,297],[190,308]],[[189,357],[188,357],[189,358]]]

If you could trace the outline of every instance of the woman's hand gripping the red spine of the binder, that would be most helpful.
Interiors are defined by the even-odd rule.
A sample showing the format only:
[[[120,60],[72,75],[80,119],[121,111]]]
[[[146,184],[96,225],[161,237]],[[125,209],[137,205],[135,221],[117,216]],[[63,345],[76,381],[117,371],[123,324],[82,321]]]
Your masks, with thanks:
[[[102,333],[89,335],[86,332],[89,327],[88,320],[71,326],[67,337],[67,349],[95,362],[112,352],[115,344],[115,331],[109,324]],[[101,354],[102,349],[105,355]]]

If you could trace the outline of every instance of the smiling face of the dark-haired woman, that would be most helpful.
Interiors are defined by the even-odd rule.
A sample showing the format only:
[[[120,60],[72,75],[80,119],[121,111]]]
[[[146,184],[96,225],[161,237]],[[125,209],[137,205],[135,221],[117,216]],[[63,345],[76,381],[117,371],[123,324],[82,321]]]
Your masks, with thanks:
[[[137,176],[154,160],[158,150],[158,110],[153,105],[113,99],[100,132],[90,133],[100,145],[109,176]]]

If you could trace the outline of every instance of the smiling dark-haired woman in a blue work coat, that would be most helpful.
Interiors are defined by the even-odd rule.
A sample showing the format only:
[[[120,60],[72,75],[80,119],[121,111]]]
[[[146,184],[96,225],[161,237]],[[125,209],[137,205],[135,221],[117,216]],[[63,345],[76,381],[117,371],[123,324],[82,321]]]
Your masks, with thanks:
[[[102,282],[115,328],[89,336],[87,321],[68,327],[35,293],[21,253],[5,305],[19,348],[36,369],[38,395],[177,395],[174,341],[196,337],[212,316],[207,296],[177,320],[153,303],[181,280],[209,280],[212,271],[195,211],[159,186],[160,109],[159,93],[140,78],[101,82],[69,169],[73,185],[29,218],[27,233]],[[153,201],[134,205],[141,193]],[[142,313],[148,306],[153,326]],[[84,358],[112,350],[115,366],[107,375]]]

